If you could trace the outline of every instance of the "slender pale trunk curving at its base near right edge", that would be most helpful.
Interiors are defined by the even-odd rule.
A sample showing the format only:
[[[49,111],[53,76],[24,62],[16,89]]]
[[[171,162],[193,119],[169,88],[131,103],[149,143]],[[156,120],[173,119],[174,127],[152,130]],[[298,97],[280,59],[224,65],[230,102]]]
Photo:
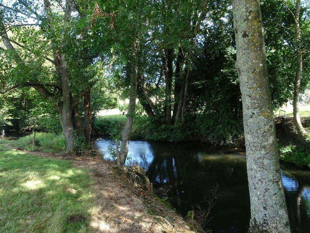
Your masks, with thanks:
[[[301,42],[300,42],[300,27],[299,27],[299,11],[300,11],[300,0],[296,1],[295,6],[295,15],[294,15],[294,29],[295,29],[295,44],[296,44],[296,75],[294,81],[294,99],[293,99],[293,115],[294,115],[294,123],[295,128],[298,134],[298,140],[302,144],[306,144],[305,142],[305,134],[307,133],[304,130],[303,125],[300,121],[299,116],[299,88],[301,81],[301,73],[303,70],[303,54],[300,50]]]

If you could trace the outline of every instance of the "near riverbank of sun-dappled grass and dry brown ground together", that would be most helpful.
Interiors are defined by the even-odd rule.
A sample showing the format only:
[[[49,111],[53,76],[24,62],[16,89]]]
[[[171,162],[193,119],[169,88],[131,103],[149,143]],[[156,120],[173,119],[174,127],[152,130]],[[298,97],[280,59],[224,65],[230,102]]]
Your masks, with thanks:
[[[0,144],[0,175],[1,232],[202,232],[99,157]]]

